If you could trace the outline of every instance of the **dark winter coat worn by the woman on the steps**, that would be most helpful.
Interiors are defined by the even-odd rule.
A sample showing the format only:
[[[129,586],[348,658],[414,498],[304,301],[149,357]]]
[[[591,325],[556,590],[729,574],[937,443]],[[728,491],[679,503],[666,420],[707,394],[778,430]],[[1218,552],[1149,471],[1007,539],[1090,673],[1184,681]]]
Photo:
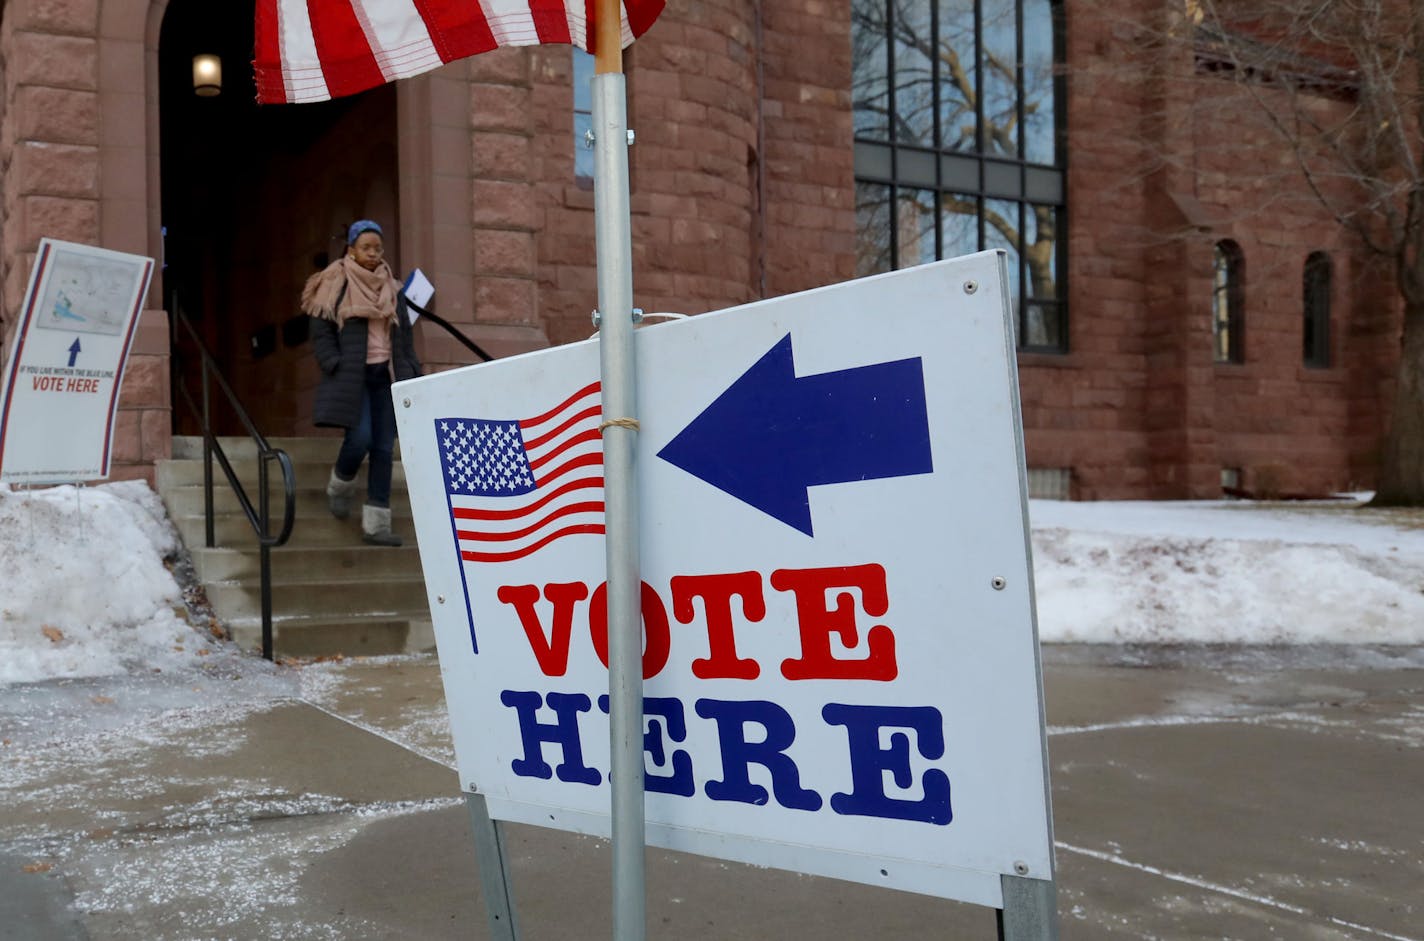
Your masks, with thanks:
[[[384,265],[384,263],[383,263]],[[389,269],[387,269],[389,270]],[[366,317],[336,316],[345,290],[339,290],[336,303],[330,307],[318,307],[310,302],[313,295],[320,295],[319,286],[329,279],[345,279],[342,261],[332,262],[308,280],[308,289],[302,292],[303,310],[312,320],[312,352],[316,354],[316,364],[322,370],[322,382],[316,387],[316,400],[312,409],[312,420],[318,427],[349,429],[360,423],[362,397],[365,396],[366,377],[366,336],[372,320]],[[383,322],[376,320],[377,326]],[[410,310],[406,306],[406,296],[396,295],[396,316],[390,329],[390,367],[393,382],[414,379],[420,374],[420,360],[416,357],[414,333],[410,327]]]

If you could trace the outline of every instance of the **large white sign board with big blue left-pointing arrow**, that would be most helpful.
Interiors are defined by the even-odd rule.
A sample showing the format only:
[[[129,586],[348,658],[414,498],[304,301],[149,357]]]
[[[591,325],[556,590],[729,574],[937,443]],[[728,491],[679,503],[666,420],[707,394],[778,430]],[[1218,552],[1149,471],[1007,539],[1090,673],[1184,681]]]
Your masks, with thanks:
[[[635,335],[649,843],[1002,907],[1052,878],[985,252]],[[597,340],[399,383],[464,786],[607,836]]]

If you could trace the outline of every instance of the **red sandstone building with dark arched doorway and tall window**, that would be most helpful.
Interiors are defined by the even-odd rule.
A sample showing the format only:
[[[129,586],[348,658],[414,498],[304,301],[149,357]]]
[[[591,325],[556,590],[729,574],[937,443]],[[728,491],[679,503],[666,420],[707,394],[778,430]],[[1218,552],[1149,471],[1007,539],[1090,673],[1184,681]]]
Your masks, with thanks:
[[[1368,485],[1398,346],[1388,273],[1270,172],[1259,122],[1198,107],[1190,44],[1143,47],[1128,14],[1142,4],[669,3],[627,57],[638,305],[699,313],[1002,248],[1038,493]],[[313,433],[296,298],[355,218],[386,221],[393,266],[422,268],[434,310],[494,354],[592,330],[585,56],[498,50],[258,107],[251,50],[242,1],[0,13],[7,343],[40,238],[161,259],[114,477],[151,480],[194,430],[179,310],[263,433]],[[219,94],[198,94],[199,54],[221,58]],[[430,367],[471,362],[420,330]]]

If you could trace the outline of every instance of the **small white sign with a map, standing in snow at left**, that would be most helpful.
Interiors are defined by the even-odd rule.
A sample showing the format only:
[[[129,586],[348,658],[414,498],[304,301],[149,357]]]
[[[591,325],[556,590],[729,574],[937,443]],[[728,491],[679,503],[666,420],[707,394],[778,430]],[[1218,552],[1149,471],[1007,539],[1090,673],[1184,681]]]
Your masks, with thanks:
[[[108,477],[154,259],[41,239],[0,389],[0,483]]]

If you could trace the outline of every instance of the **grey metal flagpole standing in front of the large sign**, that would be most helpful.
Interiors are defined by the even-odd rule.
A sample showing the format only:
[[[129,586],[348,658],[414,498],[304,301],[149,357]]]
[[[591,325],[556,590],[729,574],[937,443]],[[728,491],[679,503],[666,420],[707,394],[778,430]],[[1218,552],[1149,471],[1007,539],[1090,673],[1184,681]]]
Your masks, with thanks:
[[[594,228],[604,404],[608,561],[608,722],[614,938],[644,941],[642,577],[638,567],[638,441],[632,346],[628,101],[619,0],[598,0],[594,30]]]

